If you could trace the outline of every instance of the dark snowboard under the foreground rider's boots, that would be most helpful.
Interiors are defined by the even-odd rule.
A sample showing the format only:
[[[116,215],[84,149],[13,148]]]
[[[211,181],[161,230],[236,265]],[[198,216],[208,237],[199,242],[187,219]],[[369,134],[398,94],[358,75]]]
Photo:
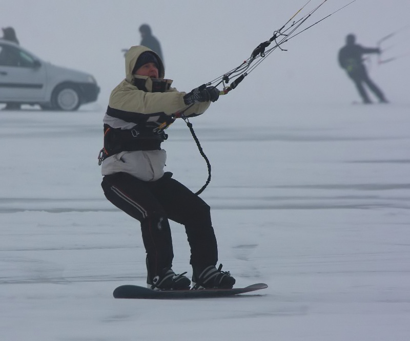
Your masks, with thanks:
[[[199,290],[152,290],[138,285],[120,285],[113,296],[116,299],[209,299],[228,297],[268,288],[267,284],[257,283],[245,288],[199,289]]]

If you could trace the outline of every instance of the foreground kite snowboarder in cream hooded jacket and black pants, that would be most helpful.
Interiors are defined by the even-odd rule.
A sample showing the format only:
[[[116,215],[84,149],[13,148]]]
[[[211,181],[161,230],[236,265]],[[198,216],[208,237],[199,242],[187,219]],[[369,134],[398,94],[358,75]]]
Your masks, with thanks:
[[[125,56],[126,79],[111,92],[104,116],[104,148],[100,151],[106,198],[141,225],[147,252],[147,285],[151,289],[189,289],[186,272],[172,269],[169,219],[185,226],[191,247],[192,284],[200,288],[232,288],[235,279],[217,269],[218,248],[210,207],[186,186],[164,172],[163,131],[174,114],[202,114],[219,97],[215,87],[189,93],[171,87],[159,55],[144,46]]]

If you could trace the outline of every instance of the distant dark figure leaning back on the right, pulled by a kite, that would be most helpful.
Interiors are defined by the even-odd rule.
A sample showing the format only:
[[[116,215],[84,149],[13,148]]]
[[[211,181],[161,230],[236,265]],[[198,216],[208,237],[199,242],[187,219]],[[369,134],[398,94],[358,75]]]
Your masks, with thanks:
[[[346,36],[346,45],[339,50],[339,64],[346,70],[347,75],[353,80],[359,91],[363,103],[372,103],[364,89],[364,84],[376,95],[381,103],[387,103],[383,93],[376,84],[368,77],[366,68],[363,64],[363,54],[380,53],[379,48],[364,48],[356,44],[354,34]]]

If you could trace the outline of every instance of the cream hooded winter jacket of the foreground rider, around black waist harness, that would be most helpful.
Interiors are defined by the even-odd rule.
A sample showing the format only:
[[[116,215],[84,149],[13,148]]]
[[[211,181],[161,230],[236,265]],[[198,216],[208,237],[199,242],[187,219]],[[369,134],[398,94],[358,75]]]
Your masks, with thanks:
[[[150,51],[156,55],[159,63],[159,78],[168,83],[169,89],[165,92],[152,92],[153,80],[145,76],[132,74],[139,55]],[[185,92],[179,92],[171,88],[172,80],[163,79],[165,70],[160,57],[144,46],[133,46],[125,56],[126,79],[118,84],[111,92],[108,110],[104,116],[104,123],[115,129],[132,129],[140,122],[141,115],[148,121],[159,119],[160,115],[172,115],[187,108],[183,101]],[[145,80],[147,91],[139,90],[134,86],[134,78]],[[200,115],[209,108],[210,102],[196,103],[184,112],[185,116]],[[114,114],[113,114],[114,113]],[[168,131],[167,131],[168,132]],[[123,151],[112,155],[103,161],[101,173],[103,175],[126,172],[132,176],[144,180],[155,181],[163,176],[166,151]]]

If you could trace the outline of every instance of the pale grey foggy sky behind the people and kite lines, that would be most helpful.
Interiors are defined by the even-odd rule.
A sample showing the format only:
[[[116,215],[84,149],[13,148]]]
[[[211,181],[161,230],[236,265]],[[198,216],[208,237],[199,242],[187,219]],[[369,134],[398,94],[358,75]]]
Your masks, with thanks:
[[[307,24],[350,2],[328,0]],[[55,65],[95,76],[104,110],[111,90],[125,77],[121,49],[138,45],[138,27],[147,23],[161,43],[166,77],[190,91],[238,66],[304,5],[301,1],[1,0],[0,25],[15,28],[20,45]],[[312,0],[312,9],[321,0]],[[305,11],[302,13],[306,13]],[[358,100],[353,83],[337,64],[348,33],[376,46],[383,36],[386,57],[410,52],[408,0],[356,0],[275,50],[219,108],[255,106],[270,111],[275,102],[345,103]],[[308,26],[308,25],[306,25]],[[402,29],[404,27],[404,29]],[[400,30],[402,29],[402,30]],[[408,103],[409,56],[379,66],[371,57],[371,78],[389,100]]]

